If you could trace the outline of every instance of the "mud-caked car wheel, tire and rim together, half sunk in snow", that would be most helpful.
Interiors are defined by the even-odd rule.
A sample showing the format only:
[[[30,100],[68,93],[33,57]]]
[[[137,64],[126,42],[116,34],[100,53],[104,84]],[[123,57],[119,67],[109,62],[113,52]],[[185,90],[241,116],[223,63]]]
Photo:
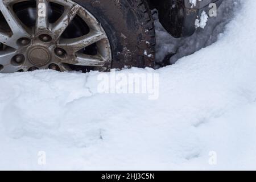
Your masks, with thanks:
[[[0,72],[153,67],[143,0],[0,0]]]

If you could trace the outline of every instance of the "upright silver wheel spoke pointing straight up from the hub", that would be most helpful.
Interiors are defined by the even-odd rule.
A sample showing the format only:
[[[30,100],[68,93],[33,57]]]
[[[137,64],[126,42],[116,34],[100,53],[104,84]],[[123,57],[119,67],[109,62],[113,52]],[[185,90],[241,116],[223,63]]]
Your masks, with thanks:
[[[36,32],[48,28],[48,0],[36,0]]]

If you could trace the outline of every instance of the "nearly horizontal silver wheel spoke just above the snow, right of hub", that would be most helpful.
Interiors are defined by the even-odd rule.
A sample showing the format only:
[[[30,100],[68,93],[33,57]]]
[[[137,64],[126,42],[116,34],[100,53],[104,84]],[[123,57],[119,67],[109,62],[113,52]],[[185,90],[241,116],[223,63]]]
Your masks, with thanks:
[[[82,53],[77,54],[77,57],[74,60],[69,59],[62,62],[86,67],[103,67],[106,63],[100,55],[90,56]]]

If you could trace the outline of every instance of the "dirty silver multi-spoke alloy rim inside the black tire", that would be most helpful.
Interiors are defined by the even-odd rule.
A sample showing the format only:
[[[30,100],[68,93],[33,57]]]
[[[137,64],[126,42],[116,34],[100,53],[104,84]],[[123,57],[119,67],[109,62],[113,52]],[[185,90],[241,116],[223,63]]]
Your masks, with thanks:
[[[28,14],[30,8],[31,12],[35,11],[34,14],[28,16],[28,19],[35,16],[35,22],[30,27],[14,10],[18,3],[20,5],[31,4],[31,7],[28,6]],[[52,9],[53,5],[63,9],[60,17],[54,22],[49,14],[55,11]],[[92,69],[106,71],[110,68],[112,53],[104,28],[88,10],[76,2],[71,0],[0,0],[0,11],[4,18],[0,23],[1,73],[34,71],[35,69],[72,71],[76,68],[77,70],[83,68],[85,71]],[[72,22],[74,19],[83,21],[82,23],[88,30],[77,33],[76,28],[74,31],[68,28],[70,24],[74,27],[81,27]],[[7,26],[8,28],[4,28]],[[90,51],[91,49],[93,51]]]

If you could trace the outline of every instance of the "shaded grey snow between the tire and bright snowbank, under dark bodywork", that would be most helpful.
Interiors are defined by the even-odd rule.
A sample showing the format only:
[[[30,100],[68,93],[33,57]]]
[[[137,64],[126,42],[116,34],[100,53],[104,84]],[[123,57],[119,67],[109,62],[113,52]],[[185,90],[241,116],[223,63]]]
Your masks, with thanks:
[[[195,34],[188,38],[172,38],[156,20],[156,40],[158,42],[156,46],[156,62],[162,64],[164,56],[175,53],[170,59],[170,63],[174,64],[181,57],[191,55],[201,48],[216,42],[219,35],[225,31],[226,24],[230,22],[230,19],[240,14],[241,2],[243,1],[223,1],[221,7],[217,10],[217,17],[209,18],[204,29],[197,28]],[[155,19],[157,19],[156,16]]]

